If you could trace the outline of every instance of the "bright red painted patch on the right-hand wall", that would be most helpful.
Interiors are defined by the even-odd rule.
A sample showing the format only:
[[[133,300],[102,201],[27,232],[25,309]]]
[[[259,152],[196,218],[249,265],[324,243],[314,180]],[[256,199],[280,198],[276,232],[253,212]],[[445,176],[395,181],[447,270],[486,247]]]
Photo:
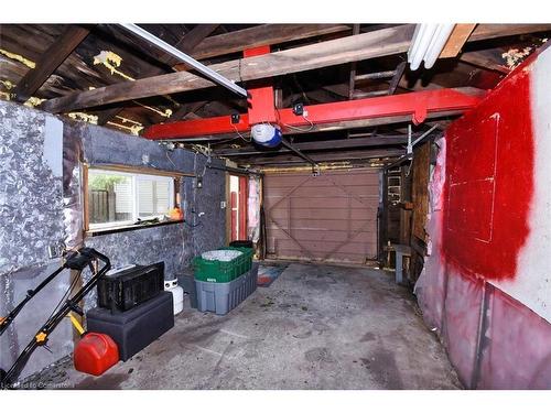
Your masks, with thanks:
[[[521,69],[446,131],[442,252],[463,274],[516,274],[533,193],[530,113],[530,76]]]

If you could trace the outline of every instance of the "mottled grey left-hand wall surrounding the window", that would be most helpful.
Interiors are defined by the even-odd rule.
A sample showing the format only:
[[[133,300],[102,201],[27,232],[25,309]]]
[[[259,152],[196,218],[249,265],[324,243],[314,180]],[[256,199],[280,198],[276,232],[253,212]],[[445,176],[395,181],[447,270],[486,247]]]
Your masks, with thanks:
[[[147,155],[147,157],[144,157]],[[65,241],[87,244],[110,257],[116,267],[165,261],[165,278],[176,278],[191,258],[225,242],[224,172],[204,169],[207,159],[190,151],[166,153],[158,143],[105,128],[67,121],[10,102],[0,102],[0,314],[6,314],[60,260],[50,260],[47,246]],[[186,224],[85,236],[80,166],[119,164],[203,174],[203,188],[193,177],[182,180]],[[222,164],[219,160],[212,163]],[[191,211],[194,210],[195,214]],[[202,214],[198,217],[199,213]],[[86,275],[86,274],[85,274]],[[42,324],[68,286],[62,274],[32,301],[0,338],[0,367],[7,368]],[[35,298],[35,300],[36,300]],[[95,293],[86,300],[94,305]],[[48,352],[39,349],[25,377],[69,354],[73,333],[62,323]]]

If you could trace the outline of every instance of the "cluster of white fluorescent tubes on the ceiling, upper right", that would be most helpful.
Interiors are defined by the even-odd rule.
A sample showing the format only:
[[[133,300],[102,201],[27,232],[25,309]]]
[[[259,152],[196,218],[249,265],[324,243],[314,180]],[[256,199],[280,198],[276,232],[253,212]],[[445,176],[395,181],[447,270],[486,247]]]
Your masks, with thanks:
[[[408,51],[408,63],[412,70],[421,67],[431,68],[439,58],[450,35],[455,28],[454,23],[421,23],[415,26],[410,50]]]

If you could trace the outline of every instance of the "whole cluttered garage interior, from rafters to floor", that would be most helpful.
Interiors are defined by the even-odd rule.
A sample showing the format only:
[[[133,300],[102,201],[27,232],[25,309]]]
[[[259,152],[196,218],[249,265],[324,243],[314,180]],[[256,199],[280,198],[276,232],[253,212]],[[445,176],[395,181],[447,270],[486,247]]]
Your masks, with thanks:
[[[550,35],[0,24],[2,389],[551,389]]]

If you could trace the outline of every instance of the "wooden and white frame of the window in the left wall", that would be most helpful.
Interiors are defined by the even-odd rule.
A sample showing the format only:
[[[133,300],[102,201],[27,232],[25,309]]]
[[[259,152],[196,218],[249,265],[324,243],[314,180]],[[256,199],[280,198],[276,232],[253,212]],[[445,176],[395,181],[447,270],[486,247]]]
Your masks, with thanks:
[[[161,171],[153,170],[148,167],[132,167],[125,165],[83,165],[83,195],[84,195],[84,230],[86,233],[96,233],[96,232],[112,232],[117,230],[128,230],[128,229],[138,229],[144,226],[151,226],[151,224],[141,224],[137,222],[138,218],[141,220],[148,220],[161,217],[162,215],[152,215],[148,217],[139,217],[139,205],[138,205],[138,185],[137,182],[140,177],[150,177],[158,181],[168,181],[169,184],[172,182],[172,185],[169,185],[169,200],[170,208],[172,209],[179,206],[179,197],[180,197],[180,184],[182,176],[194,176],[193,174],[183,174],[177,172],[170,171]],[[128,176],[131,178],[131,194],[132,194],[132,219],[123,220],[123,221],[114,221],[114,222],[101,222],[101,224],[90,224],[89,221],[89,192],[88,192],[88,178],[90,171],[101,171],[105,173],[112,173],[115,175]],[[163,214],[164,215],[164,214]],[[181,222],[182,220],[166,220],[164,222],[159,222],[154,225],[164,225],[171,222]]]

